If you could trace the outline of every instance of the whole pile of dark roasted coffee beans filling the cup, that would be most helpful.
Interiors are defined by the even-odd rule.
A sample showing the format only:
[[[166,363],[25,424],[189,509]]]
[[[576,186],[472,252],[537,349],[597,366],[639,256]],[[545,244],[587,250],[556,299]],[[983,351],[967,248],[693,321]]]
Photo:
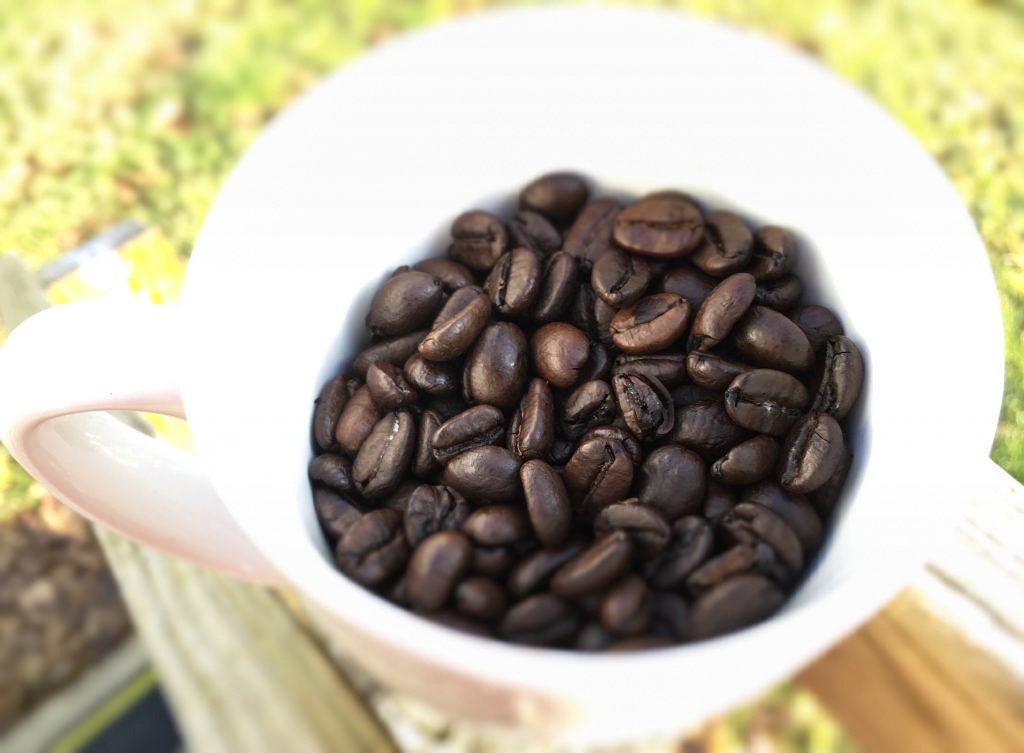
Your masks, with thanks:
[[[864,378],[794,237],[552,173],[396,269],[323,389],[338,567],[452,627],[583,651],[761,621],[819,549]]]

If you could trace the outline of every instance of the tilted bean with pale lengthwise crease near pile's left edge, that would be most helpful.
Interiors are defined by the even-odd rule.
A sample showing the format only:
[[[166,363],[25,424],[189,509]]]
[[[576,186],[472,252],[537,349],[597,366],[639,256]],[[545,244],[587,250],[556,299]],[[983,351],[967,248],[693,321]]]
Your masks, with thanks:
[[[367,499],[394,490],[413,461],[416,422],[407,411],[385,414],[374,424],[352,463],[352,480]]]

